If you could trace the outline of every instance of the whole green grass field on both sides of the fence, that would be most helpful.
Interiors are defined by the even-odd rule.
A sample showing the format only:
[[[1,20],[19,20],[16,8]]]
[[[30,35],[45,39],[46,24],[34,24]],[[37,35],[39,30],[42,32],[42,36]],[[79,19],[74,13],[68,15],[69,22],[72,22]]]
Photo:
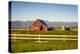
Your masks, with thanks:
[[[28,31],[28,30],[11,30],[11,34],[42,34],[42,35],[78,35],[77,30],[53,30],[53,31]],[[47,37],[49,38],[49,37]],[[76,37],[75,37],[76,38]],[[49,50],[67,50],[77,49],[78,40],[48,40],[48,42],[38,43],[36,40],[9,40],[11,41],[11,52],[34,52]]]

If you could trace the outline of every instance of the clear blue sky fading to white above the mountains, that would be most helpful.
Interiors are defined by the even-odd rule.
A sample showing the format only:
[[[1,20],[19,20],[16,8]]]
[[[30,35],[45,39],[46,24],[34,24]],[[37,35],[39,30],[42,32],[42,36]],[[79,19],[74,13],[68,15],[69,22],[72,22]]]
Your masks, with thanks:
[[[12,2],[12,20],[42,19],[52,22],[77,22],[77,5]]]

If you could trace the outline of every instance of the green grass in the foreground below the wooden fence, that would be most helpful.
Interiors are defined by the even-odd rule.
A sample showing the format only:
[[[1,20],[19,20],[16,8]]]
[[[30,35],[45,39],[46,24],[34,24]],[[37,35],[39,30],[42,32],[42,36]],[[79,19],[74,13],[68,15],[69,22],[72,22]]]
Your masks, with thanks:
[[[49,51],[49,50],[67,50],[77,49],[78,41],[48,41],[37,43],[34,40],[15,40],[11,42],[12,53],[17,52],[33,52],[33,51]]]

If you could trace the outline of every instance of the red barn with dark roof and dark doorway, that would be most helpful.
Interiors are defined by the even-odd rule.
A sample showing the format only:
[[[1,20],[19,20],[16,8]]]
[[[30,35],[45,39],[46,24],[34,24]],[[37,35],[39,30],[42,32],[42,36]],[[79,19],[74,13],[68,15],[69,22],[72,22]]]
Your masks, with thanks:
[[[48,25],[40,19],[37,19],[32,25],[29,26],[30,31],[47,31]]]

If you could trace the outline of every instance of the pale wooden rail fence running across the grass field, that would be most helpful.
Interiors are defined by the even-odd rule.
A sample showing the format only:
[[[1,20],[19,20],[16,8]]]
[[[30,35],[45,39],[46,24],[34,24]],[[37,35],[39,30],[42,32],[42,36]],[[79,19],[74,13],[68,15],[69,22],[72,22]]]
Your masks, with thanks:
[[[34,39],[34,40],[78,40],[77,35],[31,35],[31,34],[9,34],[11,39]]]

